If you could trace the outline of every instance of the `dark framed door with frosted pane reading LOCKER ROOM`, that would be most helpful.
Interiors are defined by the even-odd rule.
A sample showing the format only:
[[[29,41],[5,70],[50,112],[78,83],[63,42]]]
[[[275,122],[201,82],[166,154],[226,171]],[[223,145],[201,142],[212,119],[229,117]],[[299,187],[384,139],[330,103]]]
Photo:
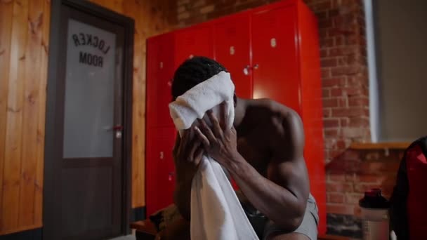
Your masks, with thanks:
[[[125,99],[132,93],[127,29],[73,4],[60,6],[59,25],[55,94],[48,96],[55,106],[48,115],[54,124],[46,127],[52,135],[46,145],[53,147],[46,148],[52,166],[46,167],[44,239],[118,236],[126,232],[130,200],[124,194],[124,171],[130,170],[124,128],[131,118]]]

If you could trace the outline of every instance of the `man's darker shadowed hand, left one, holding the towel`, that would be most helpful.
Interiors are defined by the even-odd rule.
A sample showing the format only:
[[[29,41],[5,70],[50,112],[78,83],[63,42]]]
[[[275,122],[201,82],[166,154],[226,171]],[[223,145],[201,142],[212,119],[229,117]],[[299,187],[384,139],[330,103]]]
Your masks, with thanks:
[[[202,160],[204,149],[199,138],[192,137],[193,128],[184,131],[182,139],[177,136],[173,147],[173,160],[178,183],[191,182]]]

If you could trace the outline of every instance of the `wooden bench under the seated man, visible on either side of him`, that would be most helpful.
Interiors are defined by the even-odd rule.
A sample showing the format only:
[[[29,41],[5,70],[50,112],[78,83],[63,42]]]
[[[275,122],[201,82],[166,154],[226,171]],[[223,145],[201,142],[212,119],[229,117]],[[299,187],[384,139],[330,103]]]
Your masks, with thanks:
[[[131,229],[136,230],[136,240],[154,240],[157,234],[155,225],[150,220],[143,220],[131,223]],[[334,235],[320,235],[317,237],[318,240],[350,240],[346,236],[334,236]]]

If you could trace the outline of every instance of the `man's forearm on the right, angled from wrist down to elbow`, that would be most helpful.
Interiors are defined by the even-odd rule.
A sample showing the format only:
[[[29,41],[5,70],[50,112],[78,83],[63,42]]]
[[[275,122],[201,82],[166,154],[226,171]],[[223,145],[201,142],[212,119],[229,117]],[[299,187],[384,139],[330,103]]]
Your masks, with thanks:
[[[301,209],[301,201],[306,199],[298,199],[289,189],[264,178],[242,156],[237,157],[239,161],[228,168],[228,171],[251,204],[277,225],[294,231],[301,224],[305,211]]]

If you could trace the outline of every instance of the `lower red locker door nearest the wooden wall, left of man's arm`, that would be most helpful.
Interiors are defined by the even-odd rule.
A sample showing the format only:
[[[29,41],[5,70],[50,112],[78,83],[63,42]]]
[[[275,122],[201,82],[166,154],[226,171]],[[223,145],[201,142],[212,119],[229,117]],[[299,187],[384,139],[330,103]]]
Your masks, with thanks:
[[[176,130],[169,128],[147,129],[147,158],[145,163],[145,200],[147,216],[173,203],[175,167],[172,149]]]

